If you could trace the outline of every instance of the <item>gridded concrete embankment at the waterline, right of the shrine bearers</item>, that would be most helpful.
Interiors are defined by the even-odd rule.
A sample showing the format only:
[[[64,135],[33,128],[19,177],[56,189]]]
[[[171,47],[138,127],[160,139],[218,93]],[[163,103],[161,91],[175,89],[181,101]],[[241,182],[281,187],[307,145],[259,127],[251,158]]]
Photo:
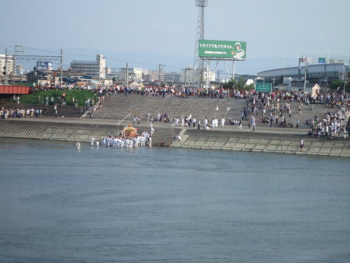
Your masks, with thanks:
[[[187,149],[216,149],[227,151],[254,151],[276,154],[307,154],[318,156],[350,156],[350,141],[336,138],[329,140],[307,136],[306,129],[261,129],[248,133],[237,126],[214,130],[184,129],[181,141],[172,143],[172,147]],[[300,139],[304,147],[300,151]]]

